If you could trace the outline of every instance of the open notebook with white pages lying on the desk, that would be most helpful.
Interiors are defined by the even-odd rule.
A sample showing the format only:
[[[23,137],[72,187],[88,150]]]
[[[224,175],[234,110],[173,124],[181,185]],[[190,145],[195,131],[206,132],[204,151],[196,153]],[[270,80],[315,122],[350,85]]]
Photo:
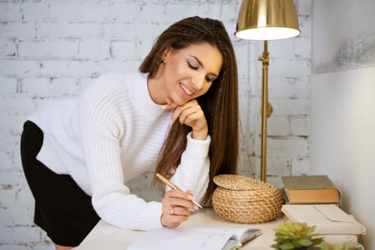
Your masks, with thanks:
[[[260,234],[260,229],[193,224],[189,227],[176,229],[147,231],[129,246],[128,250],[231,250],[239,249],[243,244]]]

